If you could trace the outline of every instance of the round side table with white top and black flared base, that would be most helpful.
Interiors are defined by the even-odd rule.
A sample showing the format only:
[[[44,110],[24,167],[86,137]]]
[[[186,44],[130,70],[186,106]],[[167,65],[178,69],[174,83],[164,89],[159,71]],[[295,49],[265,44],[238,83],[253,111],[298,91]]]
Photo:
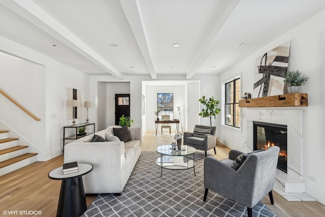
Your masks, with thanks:
[[[87,209],[82,176],[92,170],[91,164],[79,163],[78,172],[63,175],[63,168],[58,167],[49,172],[49,178],[61,181],[57,217],[74,217],[82,215]]]

